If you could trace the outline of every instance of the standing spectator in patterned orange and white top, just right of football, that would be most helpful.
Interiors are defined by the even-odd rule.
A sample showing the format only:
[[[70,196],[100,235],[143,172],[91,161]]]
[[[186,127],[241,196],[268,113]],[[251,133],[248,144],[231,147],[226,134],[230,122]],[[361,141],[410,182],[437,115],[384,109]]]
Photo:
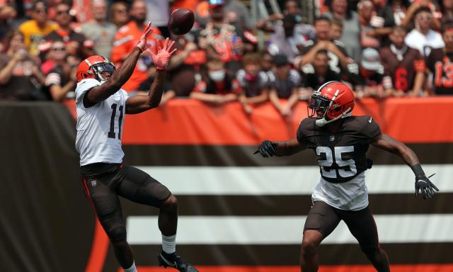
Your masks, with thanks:
[[[210,19],[206,27],[195,34],[198,45],[206,50],[208,59],[221,60],[226,69],[236,73],[241,69],[241,57],[245,50],[243,33],[225,23],[222,0],[210,0]]]

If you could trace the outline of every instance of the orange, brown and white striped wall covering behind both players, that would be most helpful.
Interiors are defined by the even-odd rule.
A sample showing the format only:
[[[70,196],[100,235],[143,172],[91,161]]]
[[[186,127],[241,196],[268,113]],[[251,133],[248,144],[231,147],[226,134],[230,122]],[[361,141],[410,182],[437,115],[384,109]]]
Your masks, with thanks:
[[[120,271],[80,183],[74,149],[74,101],[0,103],[1,271]],[[69,109],[69,111],[67,110]],[[357,102],[383,132],[406,142],[440,188],[413,197],[413,174],[401,159],[370,148],[369,202],[392,271],[453,271],[453,98]],[[306,103],[293,118],[270,104],[247,116],[241,106],[170,101],[127,115],[125,164],[147,171],[179,201],[177,250],[200,271],[299,271],[302,228],[319,168],[311,151],[253,156],[264,139],[294,137]],[[157,268],[158,211],[122,201],[140,272]],[[340,223],[321,245],[320,271],[374,271]]]

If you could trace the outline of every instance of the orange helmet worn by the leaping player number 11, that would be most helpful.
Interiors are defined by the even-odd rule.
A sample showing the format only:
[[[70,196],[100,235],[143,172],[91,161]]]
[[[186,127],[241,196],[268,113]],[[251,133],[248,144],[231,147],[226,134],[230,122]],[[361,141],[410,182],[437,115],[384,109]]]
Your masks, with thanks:
[[[111,75],[115,70],[113,62],[103,56],[93,55],[79,64],[76,72],[77,82],[82,79],[96,79],[102,83],[107,80],[102,76],[102,73],[108,72]]]

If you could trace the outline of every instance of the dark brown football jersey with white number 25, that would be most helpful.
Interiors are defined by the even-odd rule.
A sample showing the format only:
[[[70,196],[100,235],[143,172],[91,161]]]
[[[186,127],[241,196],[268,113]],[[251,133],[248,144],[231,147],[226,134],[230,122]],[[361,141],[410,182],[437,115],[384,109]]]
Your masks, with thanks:
[[[330,132],[319,127],[315,118],[305,118],[297,129],[297,140],[316,153],[321,176],[331,183],[343,183],[367,170],[369,144],[381,135],[381,129],[373,118],[350,116],[340,129]]]

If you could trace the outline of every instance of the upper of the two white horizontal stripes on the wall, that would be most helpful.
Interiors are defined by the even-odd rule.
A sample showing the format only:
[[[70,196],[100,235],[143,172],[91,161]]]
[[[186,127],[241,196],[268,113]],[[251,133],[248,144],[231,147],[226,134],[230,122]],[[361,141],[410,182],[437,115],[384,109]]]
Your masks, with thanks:
[[[137,166],[178,195],[311,195],[319,166]],[[441,193],[453,192],[453,164],[425,164]],[[366,172],[369,193],[414,193],[406,165],[373,166]]]

